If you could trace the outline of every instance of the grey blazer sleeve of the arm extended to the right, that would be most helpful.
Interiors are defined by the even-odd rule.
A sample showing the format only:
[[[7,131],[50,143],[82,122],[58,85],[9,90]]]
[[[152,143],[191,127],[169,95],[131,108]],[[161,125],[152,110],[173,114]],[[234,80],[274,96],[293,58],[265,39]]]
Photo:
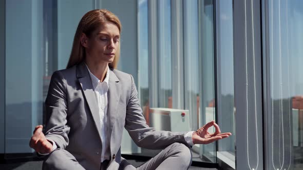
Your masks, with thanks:
[[[174,142],[184,143],[185,132],[156,131],[150,128],[145,121],[138,99],[138,91],[134,78],[131,77],[131,94],[126,107],[125,129],[139,147],[148,149],[162,149]]]

